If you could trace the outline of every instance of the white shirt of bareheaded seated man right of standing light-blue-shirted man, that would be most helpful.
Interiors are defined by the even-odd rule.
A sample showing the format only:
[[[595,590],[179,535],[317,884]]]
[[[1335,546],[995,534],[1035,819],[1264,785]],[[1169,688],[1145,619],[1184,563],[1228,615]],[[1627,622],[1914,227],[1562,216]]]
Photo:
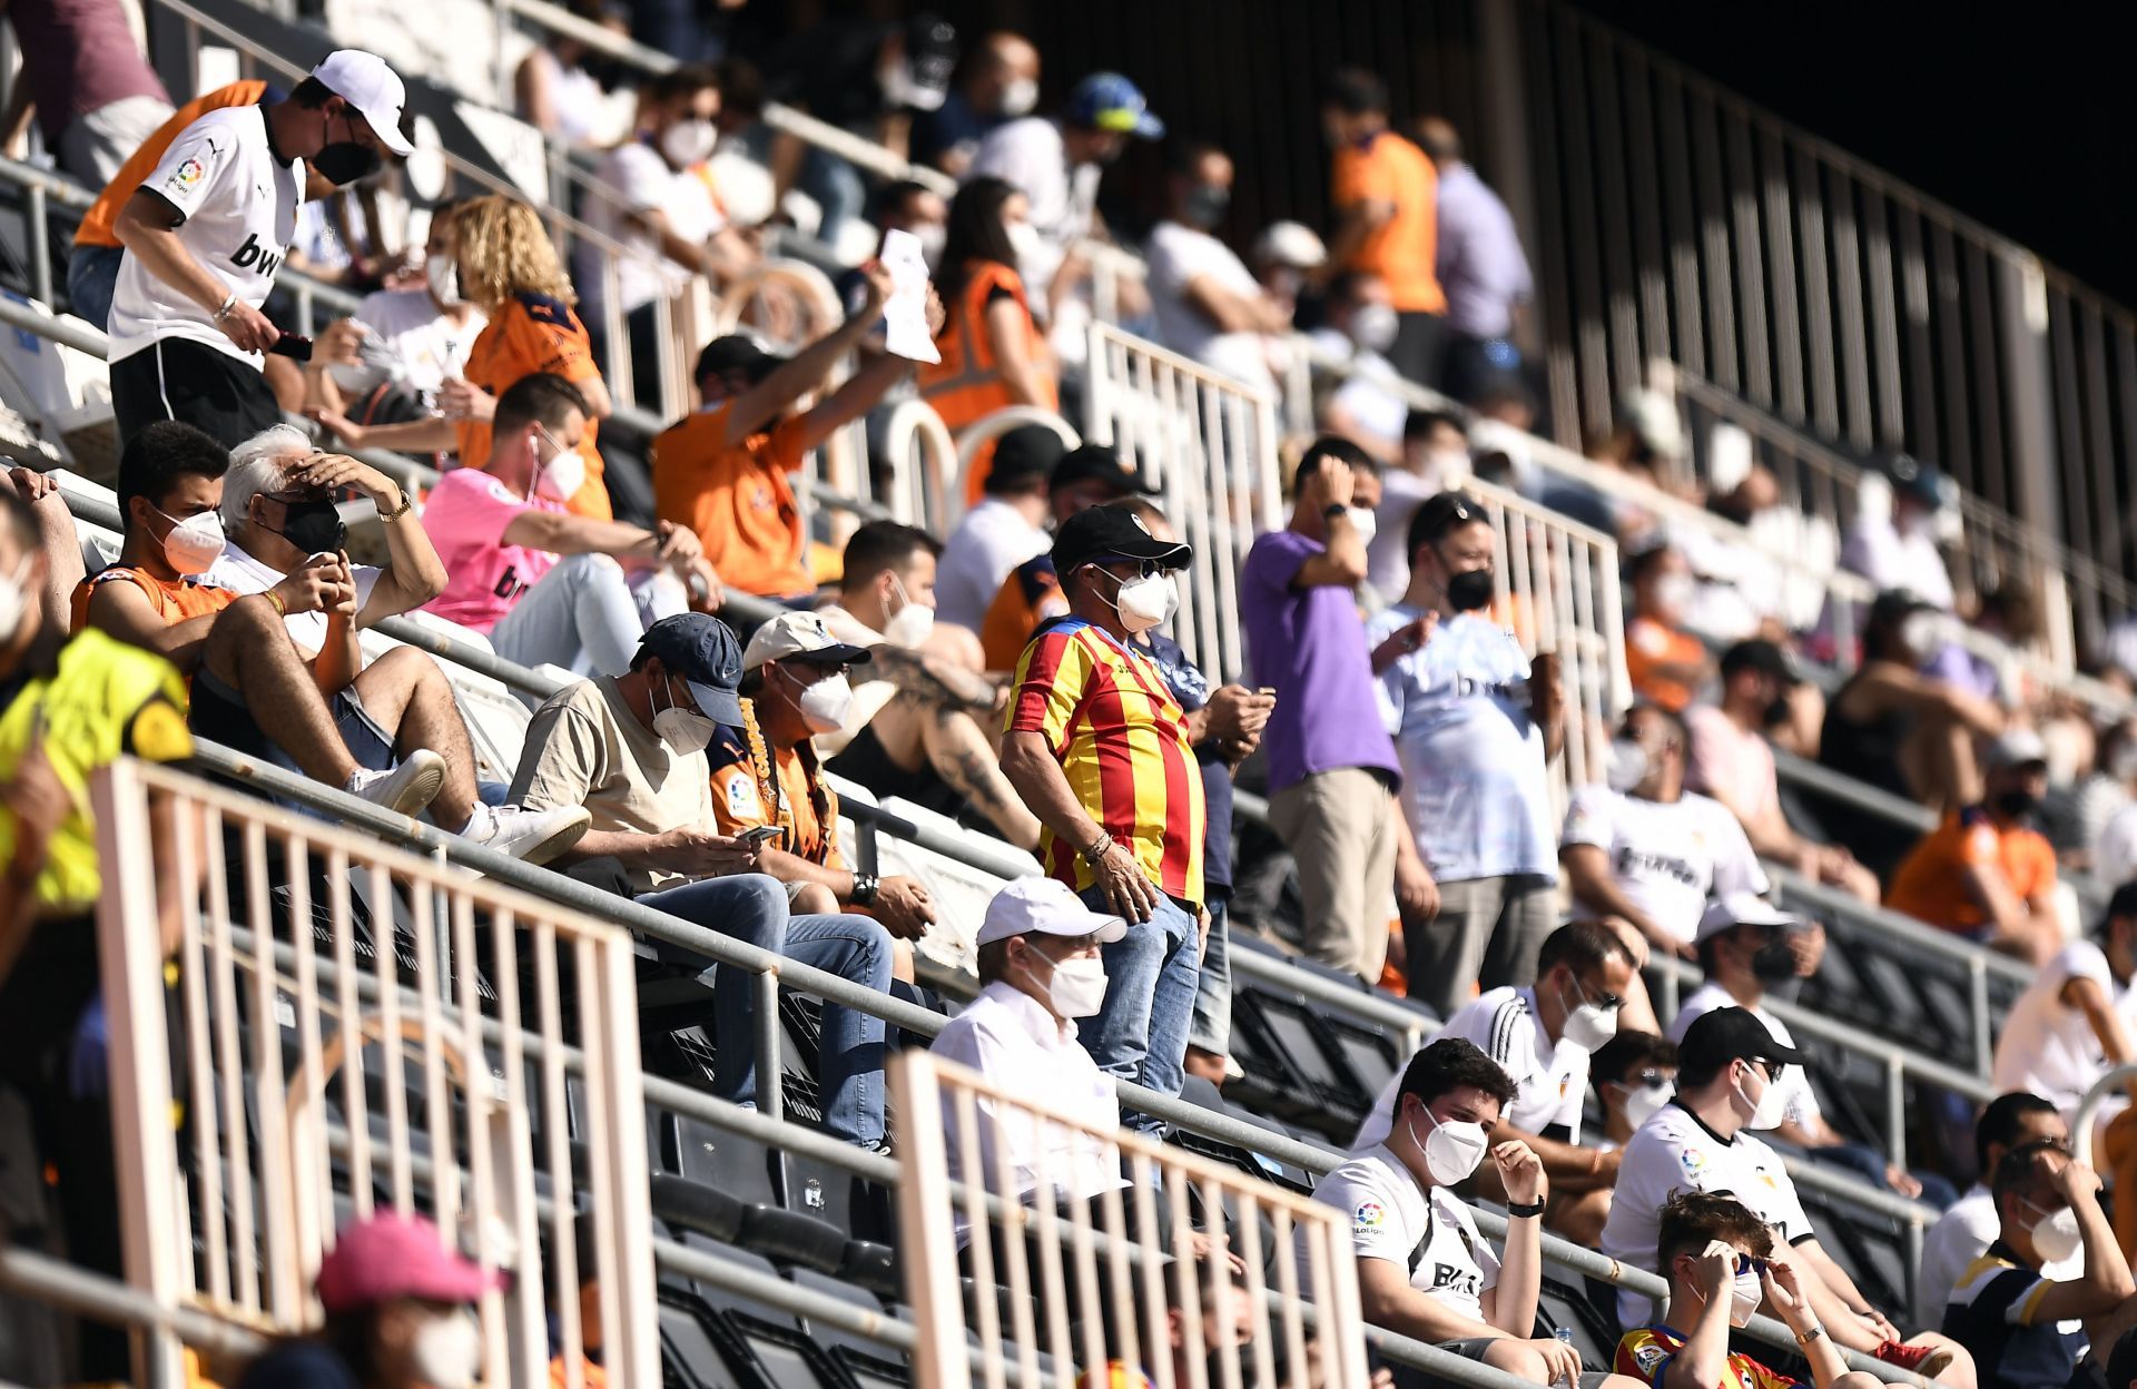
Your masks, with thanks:
[[[1729,808],[1693,791],[1675,801],[1643,801],[1609,786],[1581,786],[1558,844],[1603,848],[1633,906],[1686,945],[1699,932],[1707,898],[1763,898],[1772,887]]]

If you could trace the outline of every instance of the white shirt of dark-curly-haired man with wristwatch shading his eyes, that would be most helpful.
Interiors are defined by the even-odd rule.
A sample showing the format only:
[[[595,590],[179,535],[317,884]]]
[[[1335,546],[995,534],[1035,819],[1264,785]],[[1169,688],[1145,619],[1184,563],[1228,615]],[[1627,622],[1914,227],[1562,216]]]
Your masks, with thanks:
[[[1314,1201],[1351,1222],[1351,1252],[1385,1259],[1410,1274],[1410,1286],[1472,1321],[1483,1321],[1483,1293],[1498,1286],[1498,1254],[1477,1218],[1453,1192],[1417,1184],[1385,1145],[1359,1152],[1314,1182]],[[1299,1282],[1306,1284],[1306,1233],[1297,1235]]]

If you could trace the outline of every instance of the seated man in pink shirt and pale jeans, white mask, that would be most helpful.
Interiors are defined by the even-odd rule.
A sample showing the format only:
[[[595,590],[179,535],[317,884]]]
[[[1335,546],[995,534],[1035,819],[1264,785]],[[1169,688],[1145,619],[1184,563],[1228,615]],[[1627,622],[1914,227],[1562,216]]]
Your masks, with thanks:
[[[648,624],[718,603],[718,583],[680,526],[564,509],[583,481],[588,419],[579,389],[547,372],[498,397],[489,459],[447,472],[423,506],[449,575],[423,611],[483,633],[519,665],[622,675]]]

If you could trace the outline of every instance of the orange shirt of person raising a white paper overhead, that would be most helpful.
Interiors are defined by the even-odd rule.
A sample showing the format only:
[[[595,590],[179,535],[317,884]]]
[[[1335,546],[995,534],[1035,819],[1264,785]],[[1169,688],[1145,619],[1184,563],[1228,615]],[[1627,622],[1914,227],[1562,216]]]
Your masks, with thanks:
[[[699,410],[654,440],[654,511],[688,526],[720,583],[759,598],[816,592],[789,472],[801,466],[799,419],[727,447],[731,404]]]

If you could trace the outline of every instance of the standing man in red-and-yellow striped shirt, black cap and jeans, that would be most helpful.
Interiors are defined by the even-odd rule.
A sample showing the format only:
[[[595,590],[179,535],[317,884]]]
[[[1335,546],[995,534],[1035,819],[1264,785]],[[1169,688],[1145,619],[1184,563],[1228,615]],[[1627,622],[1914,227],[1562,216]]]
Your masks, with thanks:
[[[1054,541],[1068,615],[1017,660],[1002,776],[1039,816],[1039,861],[1128,923],[1105,947],[1105,1004],[1083,1039],[1101,1071],[1177,1094],[1203,932],[1207,799],[1188,716],[1137,637],[1165,622],[1188,547],[1118,506]],[[1158,1120],[1130,1115],[1156,1130]]]

